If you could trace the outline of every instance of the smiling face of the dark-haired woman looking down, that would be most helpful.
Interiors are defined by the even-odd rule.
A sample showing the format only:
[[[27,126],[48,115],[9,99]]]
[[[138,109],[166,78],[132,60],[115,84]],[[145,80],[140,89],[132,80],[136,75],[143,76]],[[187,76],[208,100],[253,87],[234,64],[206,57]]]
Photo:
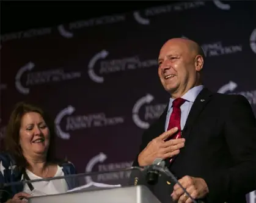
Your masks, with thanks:
[[[21,118],[20,146],[25,157],[46,155],[49,146],[49,129],[43,117],[29,112]]]

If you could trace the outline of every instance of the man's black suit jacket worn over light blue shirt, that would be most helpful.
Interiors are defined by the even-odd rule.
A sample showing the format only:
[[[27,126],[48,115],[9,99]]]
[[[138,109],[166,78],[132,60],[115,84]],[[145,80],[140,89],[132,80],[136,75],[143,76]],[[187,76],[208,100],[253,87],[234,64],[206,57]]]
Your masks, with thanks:
[[[164,132],[167,109],[142,135],[141,152]],[[256,189],[256,121],[244,96],[199,93],[189,112],[182,137],[185,147],[169,164],[180,179],[202,177],[208,185],[207,203],[246,202],[246,193]],[[138,166],[137,157],[133,166]],[[174,184],[165,177],[151,187],[161,202],[171,202]]]

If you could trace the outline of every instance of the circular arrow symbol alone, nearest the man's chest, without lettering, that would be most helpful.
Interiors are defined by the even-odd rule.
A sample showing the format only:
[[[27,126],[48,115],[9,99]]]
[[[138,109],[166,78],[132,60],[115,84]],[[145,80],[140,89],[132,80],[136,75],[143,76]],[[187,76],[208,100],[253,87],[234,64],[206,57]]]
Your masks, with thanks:
[[[148,129],[150,124],[145,121],[142,121],[139,118],[139,110],[141,109],[142,105],[149,104],[153,101],[153,99],[154,97],[151,94],[147,94],[146,96],[139,99],[133,107],[133,121],[136,124],[136,126],[141,127],[142,129]]]

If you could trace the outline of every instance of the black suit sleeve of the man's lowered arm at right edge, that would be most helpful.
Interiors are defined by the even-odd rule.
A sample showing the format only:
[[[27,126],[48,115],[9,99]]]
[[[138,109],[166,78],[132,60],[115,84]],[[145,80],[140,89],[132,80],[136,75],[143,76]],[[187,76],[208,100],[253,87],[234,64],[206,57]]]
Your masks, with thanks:
[[[234,95],[225,117],[224,136],[233,167],[212,171],[205,177],[211,202],[225,202],[234,195],[244,195],[256,188],[256,121],[244,96]]]

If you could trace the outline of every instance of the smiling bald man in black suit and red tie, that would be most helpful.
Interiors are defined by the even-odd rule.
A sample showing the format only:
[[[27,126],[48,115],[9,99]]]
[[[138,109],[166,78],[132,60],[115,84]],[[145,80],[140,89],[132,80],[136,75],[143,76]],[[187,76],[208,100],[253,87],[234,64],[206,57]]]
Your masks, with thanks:
[[[204,60],[194,41],[173,38],[163,45],[158,75],[170,101],[142,135],[133,166],[163,158],[192,198],[243,203],[256,189],[255,116],[244,96],[212,93],[203,86]],[[161,202],[192,202],[166,177],[148,187]]]

